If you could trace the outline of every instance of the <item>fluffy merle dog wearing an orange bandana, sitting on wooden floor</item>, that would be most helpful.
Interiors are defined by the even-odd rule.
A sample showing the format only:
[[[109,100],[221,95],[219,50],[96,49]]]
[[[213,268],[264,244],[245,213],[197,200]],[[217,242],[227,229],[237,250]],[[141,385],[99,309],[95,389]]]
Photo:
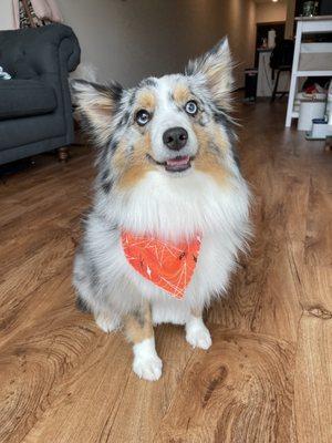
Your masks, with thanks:
[[[154,326],[211,337],[203,311],[225,293],[250,235],[250,192],[234,147],[227,38],[184,74],[137,87],[76,80],[83,127],[98,147],[92,209],[74,260],[79,306],[105,332],[122,328],[133,370],[157,380]]]

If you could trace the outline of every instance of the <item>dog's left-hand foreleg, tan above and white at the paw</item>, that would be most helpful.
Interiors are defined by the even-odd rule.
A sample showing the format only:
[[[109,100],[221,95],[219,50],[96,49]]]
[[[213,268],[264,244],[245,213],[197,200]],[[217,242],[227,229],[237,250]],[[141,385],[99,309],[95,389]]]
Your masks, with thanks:
[[[155,348],[155,336],[152,312],[148,302],[132,315],[125,317],[125,334],[133,343],[133,370],[145,380],[158,380],[162,375],[163,362]]]

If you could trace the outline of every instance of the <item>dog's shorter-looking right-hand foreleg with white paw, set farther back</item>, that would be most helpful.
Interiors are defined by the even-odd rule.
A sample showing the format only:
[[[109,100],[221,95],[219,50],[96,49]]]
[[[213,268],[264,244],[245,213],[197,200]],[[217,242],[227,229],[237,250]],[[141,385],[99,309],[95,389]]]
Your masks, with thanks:
[[[212,344],[211,336],[203,321],[203,309],[191,309],[186,322],[186,340],[193,348],[209,349]]]

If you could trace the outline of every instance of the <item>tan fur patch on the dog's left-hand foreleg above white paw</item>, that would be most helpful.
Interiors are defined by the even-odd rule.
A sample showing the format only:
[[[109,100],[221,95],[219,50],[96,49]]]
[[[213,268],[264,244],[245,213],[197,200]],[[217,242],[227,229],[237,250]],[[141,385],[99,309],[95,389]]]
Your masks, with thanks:
[[[125,334],[127,339],[136,344],[154,336],[151,307],[145,302],[142,312],[138,315],[128,315],[124,319]]]

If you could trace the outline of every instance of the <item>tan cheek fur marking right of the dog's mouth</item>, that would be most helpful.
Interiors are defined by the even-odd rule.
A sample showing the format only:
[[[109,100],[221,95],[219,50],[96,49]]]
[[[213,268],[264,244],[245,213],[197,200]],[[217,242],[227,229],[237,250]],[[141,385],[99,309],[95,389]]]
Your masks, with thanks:
[[[215,132],[215,136],[211,137],[211,135],[198,125],[195,125],[194,131],[199,144],[199,151],[195,159],[195,168],[210,175],[220,186],[225,186],[229,172],[220,163],[219,155],[209,147],[209,144],[212,142],[215,146],[220,150],[220,155],[222,155],[222,148],[226,146],[225,140],[220,134],[217,136],[217,132]]]

